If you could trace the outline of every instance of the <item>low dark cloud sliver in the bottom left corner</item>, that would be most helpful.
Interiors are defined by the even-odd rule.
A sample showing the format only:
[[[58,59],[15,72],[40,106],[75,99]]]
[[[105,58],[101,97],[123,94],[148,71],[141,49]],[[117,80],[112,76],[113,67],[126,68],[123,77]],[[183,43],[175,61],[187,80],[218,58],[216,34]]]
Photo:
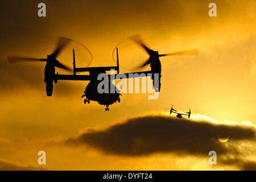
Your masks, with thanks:
[[[46,171],[43,167],[20,166],[0,159],[0,171]]]

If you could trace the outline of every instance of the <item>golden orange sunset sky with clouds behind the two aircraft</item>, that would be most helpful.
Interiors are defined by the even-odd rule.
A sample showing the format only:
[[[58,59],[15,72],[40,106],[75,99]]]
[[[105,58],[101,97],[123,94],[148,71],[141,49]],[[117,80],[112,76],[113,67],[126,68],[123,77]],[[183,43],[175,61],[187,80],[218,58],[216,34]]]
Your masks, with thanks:
[[[43,18],[40,2],[47,8]],[[210,2],[217,5],[217,17],[208,15]],[[0,169],[256,168],[254,0],[3,0],[0,7]],[[46,58],[58,36],[64,36],[90,49],[92,67],[114,66],[113,49],[124,40],[119,61],[129,67],[147,59],[127,40],[135,34],[159,53],[199,48],[199,55],[161,58],[159,98],[123,94],[109,112],[96,102],[84,105],[88,81],[59,81],[47,97],[44,63],[9,64],[6,59]],[[77,64],[86,65],[88,53],[74,42],[58,60],[72,67],[73,48]],[[171,105],[191,108],[191,119],[169,117]],[[219,142],[214,132],[228,135],[229,141]],[[38,164],[40,150],[47,154],[45,166]],[[210,150],[217,151],[217,165],[208,164]]]

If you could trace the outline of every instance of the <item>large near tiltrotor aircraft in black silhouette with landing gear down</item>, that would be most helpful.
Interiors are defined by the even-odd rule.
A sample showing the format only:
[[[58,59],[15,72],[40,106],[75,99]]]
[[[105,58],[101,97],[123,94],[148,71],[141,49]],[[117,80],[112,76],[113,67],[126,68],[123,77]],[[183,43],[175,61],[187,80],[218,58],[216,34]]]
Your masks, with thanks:
[[[100,105],[105,105],[105,111],[109,111],[109,105],[114,104],[115,102],[120,102],[119,90],[112,84],[112,81],[115,80],[116,76],[118,75],[121,79],[124,78],[135,78],[135,77],[145,77],[151,75],[151,80],[153,80],[153,85],[155,92],[160,91],[160,74],[161,74],[161,63],[159,57],[161,56],[171,56],[171,55],[197,55],[198,49],[190,50],[190,51],[181,51],[181,52],[174,52],[164,55],[159,55],[158,51],[152,51],[148,47],[146,47],[139,36],[131,37],[135,42],[141,45],[147,53],[150,55],[149,59],[141,65],[139,68],[144,67],[147,64],[150,64],[151,70],[150,71],[142,71],[142,72],[132,72],[132,73],[119,73],[119,59],[118,59],[118,48],[117,50],[117,66],[115,67],[84,67],[84,68],[76,68],[75,62],[75,50],[73,49],[73,75],[59,75],[58,73],[55,74],[55,67],[63,68],[68,71],[71,71],[70,68],[66,67],[65,65],[61,64],[58,60],[56,60],[59,53],[63,50],[63,48],[71,42],[71,39],[68,38],[59,38],[58,46],[56,47],[55,51],[47,56],[47,59],[34,59],[28,57],[7,57],[10,63],[18,63],[23,61],[46,61],[46,67],[44,68],[44,82],[46,82],[46,93],[47,96],[52,96],[53,90],[53,81],[55,84],[58,80],[88,80],[89,84],[86,86],[84,95],[82,98],[84,99],[84,104],[90,103],[91,101],[97,101]],[[114,74],[106,74],[106,71],[117,71]],[[77,72],[89,72],[89,75],[76,75]],[[98,84],[102,80],[98,80],[98,76],[103,73],[108,77],[109,80],[109,89],[114,88],[114,92],[107,93],[99,93],[98,92]],[[154,74],[158,73],[159,77],[157,80],[159,84],[155,84],[155,77]]]

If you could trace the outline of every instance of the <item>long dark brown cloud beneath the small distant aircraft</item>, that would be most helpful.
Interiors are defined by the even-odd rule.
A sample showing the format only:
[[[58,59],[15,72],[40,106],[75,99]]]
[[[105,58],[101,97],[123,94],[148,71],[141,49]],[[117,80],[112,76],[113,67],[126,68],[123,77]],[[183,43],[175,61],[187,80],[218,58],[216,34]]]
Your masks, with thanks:
[[[218,137],[229,137],[221,143]],[[144,115],[116,123],[106,129],[90,129],[70,144],[89,144],[106,154],[141,156],[154,153],[174,152],[179,155],[239,154],[239,140],[255,139],[254,127],[224,125],[207,120],[178,119],[168,115]]]

